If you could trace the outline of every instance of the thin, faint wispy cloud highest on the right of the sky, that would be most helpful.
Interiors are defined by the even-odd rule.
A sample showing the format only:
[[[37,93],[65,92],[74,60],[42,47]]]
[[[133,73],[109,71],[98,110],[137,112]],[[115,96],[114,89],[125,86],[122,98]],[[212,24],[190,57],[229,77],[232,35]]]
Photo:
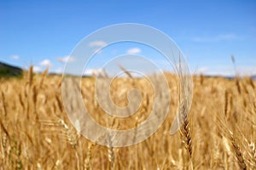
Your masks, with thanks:
[[[216,37],[194,37],[194,42],[220,42],[241,39],[236,34],[221,34]]]

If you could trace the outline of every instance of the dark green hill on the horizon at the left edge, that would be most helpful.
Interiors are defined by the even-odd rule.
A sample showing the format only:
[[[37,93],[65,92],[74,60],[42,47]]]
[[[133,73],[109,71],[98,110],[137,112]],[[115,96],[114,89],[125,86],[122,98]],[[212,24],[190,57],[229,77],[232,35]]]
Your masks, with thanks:
[[[0,77],[20,77],[22,72],[19,67],[0,62]]]

